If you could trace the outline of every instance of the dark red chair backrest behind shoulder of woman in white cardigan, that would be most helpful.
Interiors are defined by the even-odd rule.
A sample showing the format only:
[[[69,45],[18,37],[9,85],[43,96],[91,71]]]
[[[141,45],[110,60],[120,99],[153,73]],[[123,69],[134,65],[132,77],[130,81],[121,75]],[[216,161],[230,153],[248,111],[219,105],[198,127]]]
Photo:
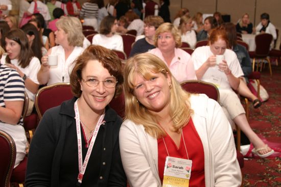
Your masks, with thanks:
[[[220,99],[219,90],[212,83],[207,83],[199,80],[192,80],[182,82],[180,85],[187,92],[198,94],[203,93],[206,94],[209,98],[214,99],[216,101],[219,101]]]

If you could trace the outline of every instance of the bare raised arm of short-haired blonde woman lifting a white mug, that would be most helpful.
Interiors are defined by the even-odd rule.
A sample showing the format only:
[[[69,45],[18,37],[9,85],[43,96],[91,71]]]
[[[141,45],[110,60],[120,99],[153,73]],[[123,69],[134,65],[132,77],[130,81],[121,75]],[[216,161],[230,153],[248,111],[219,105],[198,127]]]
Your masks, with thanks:
[[[50,66],[48,64],[48,55],[52,52],[52,48],[50,48],[45,56],[41,59],[41,67],[37,74],[37,79],[40,85],[45,85],[48,83],[50,79]]]

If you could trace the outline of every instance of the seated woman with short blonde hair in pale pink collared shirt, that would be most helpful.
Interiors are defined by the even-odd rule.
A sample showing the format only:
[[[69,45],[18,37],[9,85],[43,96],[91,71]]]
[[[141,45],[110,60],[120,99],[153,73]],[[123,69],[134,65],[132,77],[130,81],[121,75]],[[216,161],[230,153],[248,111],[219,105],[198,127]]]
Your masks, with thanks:
[[[172,23],[161,24],[155,32],[155,49],[148,51],[164,61],[178,82],[197,79],[190,54],[180,49],[181,36]]]

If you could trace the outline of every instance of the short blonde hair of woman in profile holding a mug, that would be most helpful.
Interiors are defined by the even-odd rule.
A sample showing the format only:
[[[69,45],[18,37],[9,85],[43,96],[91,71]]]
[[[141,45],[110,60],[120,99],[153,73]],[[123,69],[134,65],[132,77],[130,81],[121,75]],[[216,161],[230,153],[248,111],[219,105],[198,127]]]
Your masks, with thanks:
[[[56,22],[56,26],[67,34],[68,44],[71,46],[83,46],[84,35],[82,24],[77,17],[61,16]]]

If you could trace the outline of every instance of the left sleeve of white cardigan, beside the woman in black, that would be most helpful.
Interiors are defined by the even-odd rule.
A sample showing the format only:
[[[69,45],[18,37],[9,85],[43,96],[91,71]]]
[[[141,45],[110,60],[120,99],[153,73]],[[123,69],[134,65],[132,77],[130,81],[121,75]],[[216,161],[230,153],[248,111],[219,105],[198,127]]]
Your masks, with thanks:
[[[137,126],[140,125],[126,120],[119,133],[122,164],[129,184],[131,187],[159,186],[157,179],[159,176],[155,176],[151,160],[148,158],[148,154],[151,153],[147,144],[148,139],[144,138],[145,133]]]

